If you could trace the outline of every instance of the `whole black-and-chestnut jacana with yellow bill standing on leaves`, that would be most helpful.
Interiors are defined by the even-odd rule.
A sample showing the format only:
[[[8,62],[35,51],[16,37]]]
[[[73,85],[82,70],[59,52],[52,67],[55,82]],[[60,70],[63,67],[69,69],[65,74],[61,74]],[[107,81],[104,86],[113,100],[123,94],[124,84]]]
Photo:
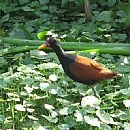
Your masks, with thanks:
[[[95,88],[93,87],[95,83],[110,79],[117,75],[116,72],[111,71],[108,68],[105,68],[96,61],[76,55],[68,54],[61,48],[58,41],[51,37],[48,38],[45,44],[39,46],[39,50],[44,49],[45,47],[50,47],[56,53],[64,72],[74,81],[92,85],[92,90],[94,95],[99,98]]]

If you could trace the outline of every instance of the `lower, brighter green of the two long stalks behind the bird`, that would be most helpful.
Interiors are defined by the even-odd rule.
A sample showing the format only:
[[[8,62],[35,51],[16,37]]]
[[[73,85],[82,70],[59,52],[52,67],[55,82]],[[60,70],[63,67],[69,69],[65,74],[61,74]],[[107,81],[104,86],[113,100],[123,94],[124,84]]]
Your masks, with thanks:
[[[7,55],[7,54],[12,54],[12,53],[20,53],[20,52],[27,52],[30,50],[34,50],[34,49],[38,49],[37,46],[20,46],[20,47],[11,47],[11,48],[6,48],[6,49],[2,49],[0,50],[0,55]],[[63,49],[65,51],[81,51],[81,52],[98,52],[98,53],[109,53],[109,54],[114,54],[114,55],[130,55],[130,50],[127,48],[107,48],[107,49],[88,49],[85,50],[83,48],[77,48],[75,49],[75,47],[71,47],[70,49],[68,49],[68,47],[63,47]],[[53,52],[52,49],[49,48],[45,48],[44,49],[45,52]]]

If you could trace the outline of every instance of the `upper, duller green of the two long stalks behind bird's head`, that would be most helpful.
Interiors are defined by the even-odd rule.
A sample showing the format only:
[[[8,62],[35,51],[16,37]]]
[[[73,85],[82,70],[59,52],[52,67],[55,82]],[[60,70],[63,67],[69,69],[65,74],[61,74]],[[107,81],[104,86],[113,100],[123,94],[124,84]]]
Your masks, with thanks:
[[[9,43],[12,45],[16,46],[39,46],[43,44],[45,41],[40,41],[40,40],[23,40],[23,39],[14,39],[14,38],[9,38],[9,37],[0,37],[1,39],[1,44],[2,43]],[[128,43],[98,43],[98,42],[61,42],[62,46],[83,46],[83,48],[113,48],[113,47],[126,47],[130,49],[130,44]]]

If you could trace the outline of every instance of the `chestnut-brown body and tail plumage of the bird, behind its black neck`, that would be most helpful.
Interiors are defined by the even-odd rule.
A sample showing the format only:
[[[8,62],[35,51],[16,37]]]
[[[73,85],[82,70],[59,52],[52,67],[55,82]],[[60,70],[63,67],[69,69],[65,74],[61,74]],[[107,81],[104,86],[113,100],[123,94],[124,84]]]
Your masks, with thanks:
[[[77,56],[75,62],[70,64],[69,70],[77,81],[89,85],[117,75],[94,60],[83,56]]]

